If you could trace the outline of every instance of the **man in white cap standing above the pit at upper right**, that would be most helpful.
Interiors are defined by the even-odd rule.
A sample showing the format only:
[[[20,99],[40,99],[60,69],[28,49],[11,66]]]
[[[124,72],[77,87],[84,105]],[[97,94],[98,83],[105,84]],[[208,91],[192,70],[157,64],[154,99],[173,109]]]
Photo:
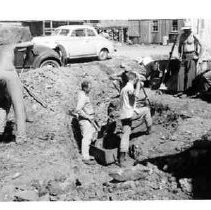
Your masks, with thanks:
[[[179,39],[178,53],[181,67],[178,74],[177,91],[182,93],[192,87],[196,77],[196,63],[202,54],[202,45],[193,34],[190,23],[181,28],[183,33]]]

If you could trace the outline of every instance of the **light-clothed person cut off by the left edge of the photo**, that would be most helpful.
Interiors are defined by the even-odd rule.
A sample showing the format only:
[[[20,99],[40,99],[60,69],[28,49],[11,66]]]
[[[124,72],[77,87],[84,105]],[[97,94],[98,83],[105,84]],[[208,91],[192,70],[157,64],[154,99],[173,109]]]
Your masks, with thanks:
[[[13,65],[13,46],[0,49],[0,137],[4,140],[4,130],[11,106],[16,117],[16,143],[23,143],[26,136],[26,113],[24,110],[22,84]]]

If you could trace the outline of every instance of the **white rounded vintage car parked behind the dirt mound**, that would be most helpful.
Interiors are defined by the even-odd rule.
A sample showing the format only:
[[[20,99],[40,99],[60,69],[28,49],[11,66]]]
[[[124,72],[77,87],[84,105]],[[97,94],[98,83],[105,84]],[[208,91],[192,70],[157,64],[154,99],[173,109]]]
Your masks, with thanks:
[[[54,49],[62,56],[63,61],[89,57],[106,60],[115,51],[110,40],[88,25],[60,26],[51,36],[34,37],[32,42]]]

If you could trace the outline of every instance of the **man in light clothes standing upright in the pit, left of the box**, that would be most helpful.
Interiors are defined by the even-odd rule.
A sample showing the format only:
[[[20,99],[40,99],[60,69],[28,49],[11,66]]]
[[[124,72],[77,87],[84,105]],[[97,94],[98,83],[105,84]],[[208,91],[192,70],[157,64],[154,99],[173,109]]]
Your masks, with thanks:
[[[96,132],[96,129],[93,126],[95,113],[89,98],[91,83],[89,81],[82,82],[81,89],[82,90],[78,93],[78,103],[76,107],[83,136],[81,152],[84,163],[94,164],[94,159],[89,155],[89,147],[94,133]]]

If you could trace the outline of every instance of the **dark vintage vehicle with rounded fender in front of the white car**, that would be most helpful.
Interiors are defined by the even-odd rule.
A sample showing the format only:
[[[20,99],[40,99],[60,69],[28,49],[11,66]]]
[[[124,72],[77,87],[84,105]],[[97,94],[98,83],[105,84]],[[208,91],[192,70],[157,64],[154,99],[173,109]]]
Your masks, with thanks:
[[[42,68],[62,66],[60,56],[49,47],[35,45],[32,42],[22,42],[15,45],[14,65],[21,68]]]

